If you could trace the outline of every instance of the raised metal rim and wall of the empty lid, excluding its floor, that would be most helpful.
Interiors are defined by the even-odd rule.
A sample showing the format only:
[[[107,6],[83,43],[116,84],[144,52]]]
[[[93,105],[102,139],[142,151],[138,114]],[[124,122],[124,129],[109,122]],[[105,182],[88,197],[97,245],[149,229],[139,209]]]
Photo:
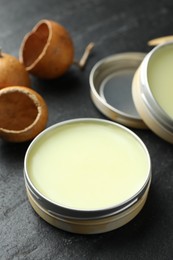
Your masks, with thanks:
[[[145,56],[146,54],[141,52],[127,52],[108,56],[94,65],[89,76],[91,99],[97,109],[109,119],[134,128],[146,128],[140,115],[112,106],[105,100],[100,89],[104,84],[103,82],[113,73],[133,70],[134,74]],[[130,93],[131,83],[132,81],[129,83]],[[130,106],[134,106],[131,95],[128,96],[128,102]],[[123,100],[121,104],[124,104]]]

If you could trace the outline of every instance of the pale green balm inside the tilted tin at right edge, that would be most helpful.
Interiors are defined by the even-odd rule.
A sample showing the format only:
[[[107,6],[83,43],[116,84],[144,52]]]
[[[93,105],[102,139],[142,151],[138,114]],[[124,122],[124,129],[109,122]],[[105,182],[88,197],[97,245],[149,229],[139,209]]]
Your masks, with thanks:
[[[161,108],[173,118],[173,44],[159,48],[148,63],[148,83]]]

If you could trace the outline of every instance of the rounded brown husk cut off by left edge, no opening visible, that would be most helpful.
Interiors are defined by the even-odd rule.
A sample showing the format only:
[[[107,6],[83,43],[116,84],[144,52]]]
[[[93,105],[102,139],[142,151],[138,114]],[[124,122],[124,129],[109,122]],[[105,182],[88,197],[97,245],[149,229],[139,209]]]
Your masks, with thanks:
[[[29,74],[17,58],[0,51],[0,89],[15,85],[30,87]]]

